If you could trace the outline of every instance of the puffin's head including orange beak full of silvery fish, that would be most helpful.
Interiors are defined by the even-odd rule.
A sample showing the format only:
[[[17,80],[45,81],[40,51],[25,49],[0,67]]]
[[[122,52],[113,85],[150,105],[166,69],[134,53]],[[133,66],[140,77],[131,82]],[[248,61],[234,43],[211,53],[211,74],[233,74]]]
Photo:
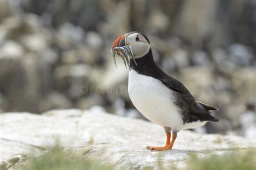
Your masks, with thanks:
[[[140,32],[129,32],[120,36],[114,41],[112,46],[112,55],[116,63],[115,56],[120,56],[124,60],[124,64],[130,67],[130,59],[136,63],[137,58],[141,58],[149,53],[149,39]],[[136,63],[137,65],[137,63]]]

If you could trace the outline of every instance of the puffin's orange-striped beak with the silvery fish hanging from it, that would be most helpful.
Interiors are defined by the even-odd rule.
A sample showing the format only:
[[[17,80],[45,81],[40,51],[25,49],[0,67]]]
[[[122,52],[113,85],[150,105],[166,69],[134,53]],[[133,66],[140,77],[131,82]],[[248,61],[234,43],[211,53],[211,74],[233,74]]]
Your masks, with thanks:
[[[114,64],[117,67],[116,63],[116,56],[119,56],[123,59],[125,68],[127,68],[126,64],[130,68],[130,57],[133,59],[134,63],[137,65],[134,54],[132,52],[132,47],[129,44],[126,44],[126,37],[127,34],[124,34],[123,36],[120,36],[114,41],[112,46],[112,56],[114,60]]]

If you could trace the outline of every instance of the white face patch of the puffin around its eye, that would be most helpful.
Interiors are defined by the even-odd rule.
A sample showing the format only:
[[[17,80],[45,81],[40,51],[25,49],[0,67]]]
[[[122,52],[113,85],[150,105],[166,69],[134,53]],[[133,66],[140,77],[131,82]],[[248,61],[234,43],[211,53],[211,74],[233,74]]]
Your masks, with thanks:
[[[140,33],[133,33],[126,38],[126,44],[130,44],[135,58],[141,58],[150,50],[150,44]]]

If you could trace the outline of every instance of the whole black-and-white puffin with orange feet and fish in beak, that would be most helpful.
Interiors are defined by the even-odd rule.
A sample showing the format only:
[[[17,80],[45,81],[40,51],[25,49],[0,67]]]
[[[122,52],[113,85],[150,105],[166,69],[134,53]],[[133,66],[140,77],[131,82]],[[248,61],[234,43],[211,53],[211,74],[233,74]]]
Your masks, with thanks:
[[[130,68],[128,93],[134,107],[149,121],[163,126],[166,133],[165,146],[147,149],[171,150],[180,130],[219,121],[211,115],[217,108],[196,101],[183,83],[157,66],[145,34],[125,33],[113,42],[111,51],[115,64],[119,56]]]

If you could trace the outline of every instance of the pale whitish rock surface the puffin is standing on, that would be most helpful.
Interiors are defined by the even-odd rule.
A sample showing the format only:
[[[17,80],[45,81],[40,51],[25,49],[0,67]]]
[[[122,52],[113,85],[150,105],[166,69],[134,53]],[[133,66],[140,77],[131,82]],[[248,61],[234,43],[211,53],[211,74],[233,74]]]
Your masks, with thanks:
[[[181,131],[171,151],[149,151],[161,146],[165,133],[161,126],[134,118],[124,118],[87,110],[52,110],[43,115],[6,113],[0,115],[0,169],[14,166],[28,155],[42,153],[58,143],[74,151],[88,151],[117,168],[156,168],[159,155],[164,167],[183,167],[190,153],[220,154],[233,148],[255,147],[255,140],[218,134]],[[18,164],[19,164],[18,163]],[[18,166],[17,164],[15,166]]]

